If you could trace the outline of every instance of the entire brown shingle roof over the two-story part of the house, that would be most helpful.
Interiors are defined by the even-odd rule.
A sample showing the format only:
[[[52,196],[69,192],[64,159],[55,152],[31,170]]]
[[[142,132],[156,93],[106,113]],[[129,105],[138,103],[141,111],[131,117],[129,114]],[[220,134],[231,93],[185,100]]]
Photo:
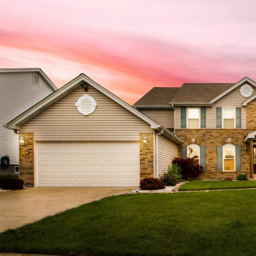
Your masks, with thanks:
[[[182,87],[154,87],[134,105],[168,105],[171,102],[209,102],[234,83],[184,83]]]

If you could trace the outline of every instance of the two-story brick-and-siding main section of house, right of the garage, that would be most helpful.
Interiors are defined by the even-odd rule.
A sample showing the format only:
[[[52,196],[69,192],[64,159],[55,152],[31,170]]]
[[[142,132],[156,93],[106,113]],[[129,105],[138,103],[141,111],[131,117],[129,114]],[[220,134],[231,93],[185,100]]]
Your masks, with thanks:
[[[256,83],[184,83],[153,88],[133,106],[183,140],[179,157],[194,157],[206,179],[256,175]]]

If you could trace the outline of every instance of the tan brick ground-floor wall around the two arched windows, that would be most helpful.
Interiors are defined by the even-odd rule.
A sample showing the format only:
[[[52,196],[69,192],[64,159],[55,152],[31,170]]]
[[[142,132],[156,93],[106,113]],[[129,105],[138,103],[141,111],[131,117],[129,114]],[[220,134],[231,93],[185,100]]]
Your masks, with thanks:
[[[255,115],[256,117],[256,115]],[[225,179],[231,177],[235,179],[238,174],[250,173],[250,152],[249,144],[244,143],[244,136],[253,130],[249,129],[176,129],[176,134],[184,141],[183,145],[188,145],[198,140],[198,144],[206,146],[206,170],[199,178],[202,179]],[[228,140],[230,138],[231,140]],[[189,141],[190,140],[190,141]],[[242,146],[242,170],[236,172],[217,171],[217,146],[230,141],[235,145]],[[244,146],[247,145],[247,150]],[[178,155],[181,157],[181,146],[178,146]]]

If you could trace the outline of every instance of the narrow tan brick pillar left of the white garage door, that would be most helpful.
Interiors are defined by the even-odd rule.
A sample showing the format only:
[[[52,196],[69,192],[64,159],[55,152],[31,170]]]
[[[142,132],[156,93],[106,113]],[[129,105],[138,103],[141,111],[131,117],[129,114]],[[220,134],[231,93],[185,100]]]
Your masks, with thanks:
[[[20,133],[25,138],[27,146],[19,145],[19,177],[24,180],[24,186],[34,186],[34,134]]]

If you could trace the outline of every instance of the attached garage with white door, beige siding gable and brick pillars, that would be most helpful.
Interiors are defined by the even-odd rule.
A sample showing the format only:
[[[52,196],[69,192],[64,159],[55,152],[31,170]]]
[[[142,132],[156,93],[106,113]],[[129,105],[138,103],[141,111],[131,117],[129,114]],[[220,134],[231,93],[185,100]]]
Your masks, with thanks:
[[[136,187],[167,170],[183,143],[84,74],[7,127],[25,140],[19,170],[26,186]]]

